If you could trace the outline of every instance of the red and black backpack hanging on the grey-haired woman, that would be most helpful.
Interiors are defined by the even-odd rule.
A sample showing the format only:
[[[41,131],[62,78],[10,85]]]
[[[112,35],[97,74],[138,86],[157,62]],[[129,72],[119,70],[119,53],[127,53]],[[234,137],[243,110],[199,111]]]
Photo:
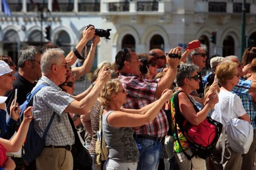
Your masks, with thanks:
[[[211,155],[212,150],[220,137],[222,124],[213,120],[210,117],[204,119],[199,125],[192,125],[187,121],[180,112],[178,94],[183,91],[177,91],[172,95],[171,111],[174,116],[175,135],[177,136],[177,142],[180,145],[184,155],[191,160],[192,157],[198,156],[206,159]],[[185,92],[184,92],[185,93]],[[186,94],[186,93],[185,93]],[[189,96],[187,96],[189,98]],[[189,98],[191,101],[191,99]],[[194,102],[191,101],[196,112],[199,112]],[[185,150],[181,147],[180,140],[178,138],[177,125],[180,128],[181,133],[186,137],[189,145],[191,146],[192,156],[189,156]]]

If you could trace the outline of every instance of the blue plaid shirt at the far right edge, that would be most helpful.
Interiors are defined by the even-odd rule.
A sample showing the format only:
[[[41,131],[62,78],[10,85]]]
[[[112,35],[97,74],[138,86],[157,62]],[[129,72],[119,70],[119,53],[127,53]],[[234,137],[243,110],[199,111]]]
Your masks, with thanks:
[[[243,107],[246,113],[250,117],[251,124],[253,125],[253,129],[256,129],[256,110],[253,108],[253,99],[249,93],[250,86],[252,81],[240,79],[237,86],[232,89],[233,93],[236,93],[241,98],[243,103]]]

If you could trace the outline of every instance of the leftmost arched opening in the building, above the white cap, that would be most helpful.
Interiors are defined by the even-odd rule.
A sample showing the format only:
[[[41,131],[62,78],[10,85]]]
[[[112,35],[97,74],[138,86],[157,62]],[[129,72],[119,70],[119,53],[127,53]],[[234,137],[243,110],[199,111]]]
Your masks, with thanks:
[[[3,52],[9,55],[13,62],[17,65],[18,52],[20,51],[20,38],[15,30],[9,30],[3,36]]]

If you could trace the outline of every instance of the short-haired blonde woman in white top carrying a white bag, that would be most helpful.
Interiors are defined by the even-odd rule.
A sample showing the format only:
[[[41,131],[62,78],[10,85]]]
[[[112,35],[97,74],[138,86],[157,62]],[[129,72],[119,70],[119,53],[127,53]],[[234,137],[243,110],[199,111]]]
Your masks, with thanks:
[[[250,118],[244,110],[242,101],[238,95],[235,95],[233,98],[233,110],[231,111],[231,115],[229,115],[230,97],[234,95],[232,93],[232,89],[238,84],[240,78],[237,63],[231,61],[223,61],[219,63],[216,69],[216,77],[218,78],[219,84],[221,85],[221,90],[218,95],[219,102],[215,104],[215,111],[212,113],[212,119],[221,122],[223,124],[223,128],[226,126],[230,118],[240,118],[250,123]],[[216,144],[215,150],[212,152],[210,169],[241,169],[241,153],[234,152],[230,147],[228,147],[231,151],[230,159],[224,157],[223,164],[219,164],[219,162],[221,161],[222,153],[221,138],[222,133]],[[225,148],[227,144],[227,135],[225,135]],[[230,155],[227,148],[225,149],[224,155]]]

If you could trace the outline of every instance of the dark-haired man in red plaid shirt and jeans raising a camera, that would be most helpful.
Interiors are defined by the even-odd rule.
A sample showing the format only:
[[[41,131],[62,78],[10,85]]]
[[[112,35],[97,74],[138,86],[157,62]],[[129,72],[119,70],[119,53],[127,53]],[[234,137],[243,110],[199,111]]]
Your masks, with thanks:
[[[170,54],[180,55],[180,47],[171,49]],[[127,102],[123,105],[128,109],[140,109],[161,96],[164,89],[169,89],[175,80],[178,58],[167,59],[167,71],[161,80],[146,80],[140,76],[142,63],[136,53],[131,49],[122,49],[116,55],[116,68],[119,79],[124,86]],[[157,117],[135,130],[134,138],[140,151],[140,160],[137,170],[157,170],[161,157],[162,145],[160,141],[167,135],[169,124],[163,109]]]

